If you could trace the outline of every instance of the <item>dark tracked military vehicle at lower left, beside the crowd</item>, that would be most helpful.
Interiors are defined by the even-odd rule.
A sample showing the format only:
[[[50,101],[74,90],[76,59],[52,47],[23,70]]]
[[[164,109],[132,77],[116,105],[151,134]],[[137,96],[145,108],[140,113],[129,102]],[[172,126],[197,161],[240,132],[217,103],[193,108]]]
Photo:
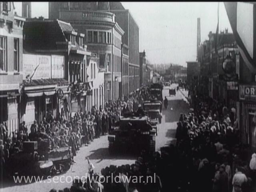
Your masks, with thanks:
[[[9,176],[44,175],[69,170],[72,152],[69,147],[58,148],[53,140],[23,142],[23,149],[14,152],[7,163]]]

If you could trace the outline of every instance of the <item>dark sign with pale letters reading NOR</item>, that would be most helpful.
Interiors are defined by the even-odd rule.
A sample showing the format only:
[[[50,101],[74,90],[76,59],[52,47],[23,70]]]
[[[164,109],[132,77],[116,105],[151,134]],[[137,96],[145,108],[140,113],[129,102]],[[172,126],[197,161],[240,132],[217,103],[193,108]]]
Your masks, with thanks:
[[[241,100],[256,100],[256,85],[240,85],[239,92]]]

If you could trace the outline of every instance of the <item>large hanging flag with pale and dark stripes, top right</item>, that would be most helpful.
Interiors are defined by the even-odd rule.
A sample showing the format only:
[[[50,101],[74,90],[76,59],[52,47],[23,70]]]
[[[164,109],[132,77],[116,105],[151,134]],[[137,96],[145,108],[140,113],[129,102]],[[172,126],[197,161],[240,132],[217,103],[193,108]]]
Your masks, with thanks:
[[[224,2],[239,52],[251,71],[256,63],[256,2]]]

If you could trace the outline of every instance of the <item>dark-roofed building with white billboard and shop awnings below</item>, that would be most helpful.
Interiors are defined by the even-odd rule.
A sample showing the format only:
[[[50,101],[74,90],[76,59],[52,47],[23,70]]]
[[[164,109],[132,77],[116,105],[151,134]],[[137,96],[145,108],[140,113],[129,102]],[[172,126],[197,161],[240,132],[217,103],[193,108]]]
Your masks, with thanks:
[[[88,56],[84,34],[75,32],[69,23],[26,21],[21,114],[28,124],[58,115],[68,119],[70,113],[86,110]]]

